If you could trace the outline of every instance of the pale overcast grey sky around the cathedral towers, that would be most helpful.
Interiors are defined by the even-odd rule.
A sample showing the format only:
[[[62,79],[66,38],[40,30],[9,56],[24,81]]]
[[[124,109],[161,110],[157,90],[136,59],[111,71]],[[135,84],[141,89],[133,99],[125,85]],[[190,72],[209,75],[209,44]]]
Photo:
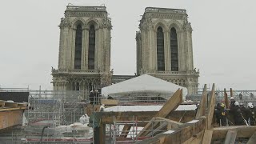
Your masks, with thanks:
[[[193,28],[200,87],[256,90],[255,0],[5,0],[0,9],[0,86],[51,90],[58,67],[60,18],[66,5],[101,6],[112,18],[111,68],[136,71],[135,34],[147,6],[186,9]]]

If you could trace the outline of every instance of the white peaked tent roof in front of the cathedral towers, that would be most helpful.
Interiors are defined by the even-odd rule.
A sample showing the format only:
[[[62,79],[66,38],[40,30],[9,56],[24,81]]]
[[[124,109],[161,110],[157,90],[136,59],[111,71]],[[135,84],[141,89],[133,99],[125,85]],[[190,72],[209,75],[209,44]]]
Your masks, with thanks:
[[[111,86],[106,86],[102,88],[102,94],[107,96],[111,94],[134,93],[142,91],[173,94],[178,89],[182,89],[182,96],[185,98],[187,94],[186,87],[178,86],[174,83],[166,82],[160,78],[143,74]]]

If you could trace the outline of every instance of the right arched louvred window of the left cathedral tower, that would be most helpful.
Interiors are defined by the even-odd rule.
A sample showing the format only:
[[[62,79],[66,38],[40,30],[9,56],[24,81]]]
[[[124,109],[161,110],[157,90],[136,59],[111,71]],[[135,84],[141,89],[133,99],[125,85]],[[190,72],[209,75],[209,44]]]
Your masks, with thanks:
[[[91,25],[89,30],[88,70],[94,70],[94,58],[95,58],[95,28],[94,28],[94,25]]]

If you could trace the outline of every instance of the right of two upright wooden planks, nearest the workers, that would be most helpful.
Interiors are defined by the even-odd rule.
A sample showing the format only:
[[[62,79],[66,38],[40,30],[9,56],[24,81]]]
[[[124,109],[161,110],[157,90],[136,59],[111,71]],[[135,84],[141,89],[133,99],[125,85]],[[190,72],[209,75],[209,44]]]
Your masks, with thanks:
[[[214,106],[215,106],[215,84],[212,86],[212,90],[210,92],[210,103],[208,106],[208,114],[207,114],[207,121],[206,121],[206,129],[210,129],[212,127],[212,122],[214,118]]]

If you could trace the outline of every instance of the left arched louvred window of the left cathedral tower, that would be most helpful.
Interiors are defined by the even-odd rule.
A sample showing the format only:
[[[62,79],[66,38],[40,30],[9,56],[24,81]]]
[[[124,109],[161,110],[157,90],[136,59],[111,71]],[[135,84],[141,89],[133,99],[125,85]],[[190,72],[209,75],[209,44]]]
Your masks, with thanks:
[[[74,69],[81,69],[82,26],[78,25],[75,33]]]

